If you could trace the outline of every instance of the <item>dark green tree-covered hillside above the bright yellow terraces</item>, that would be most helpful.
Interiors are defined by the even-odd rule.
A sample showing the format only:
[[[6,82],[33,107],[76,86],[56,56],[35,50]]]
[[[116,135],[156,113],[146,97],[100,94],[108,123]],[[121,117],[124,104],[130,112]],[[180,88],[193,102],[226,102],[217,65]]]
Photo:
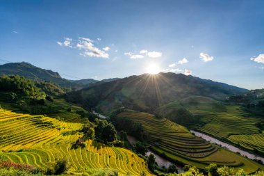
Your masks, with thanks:
[[[63,118],[63,114],[81,108],[65,102],[62,95],[67,91],[49,81],[34,82],[17,75],[0,77],[0,104],[5,109],[31,114],[49,114]],[[71,112],[71,109],[74,110]]]

